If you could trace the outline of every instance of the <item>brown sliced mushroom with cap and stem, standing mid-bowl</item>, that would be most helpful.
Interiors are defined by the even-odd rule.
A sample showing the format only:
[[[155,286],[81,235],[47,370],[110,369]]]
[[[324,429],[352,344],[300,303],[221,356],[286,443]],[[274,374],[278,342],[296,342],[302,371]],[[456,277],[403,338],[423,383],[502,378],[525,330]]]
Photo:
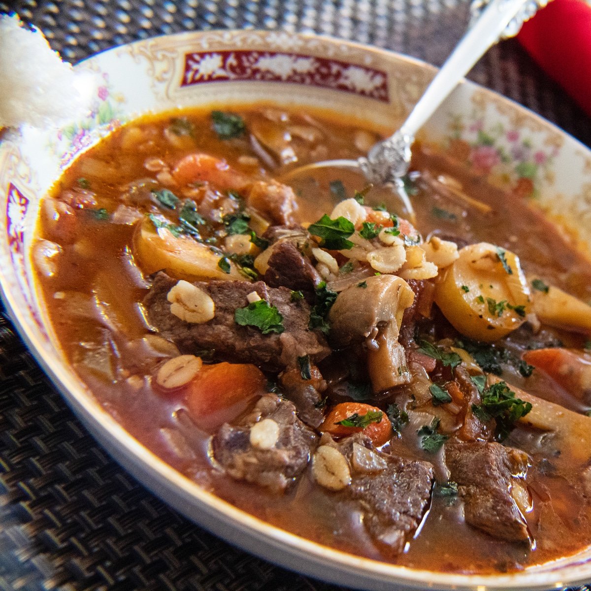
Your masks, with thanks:
[[[363,287],[365,285],[365,287]],[[398,333],[414,292],[396,275],[374,275],[342,291],[330,310],[330,339],[336,347],[365,342],[374,392],[408,384],[410,372]]]

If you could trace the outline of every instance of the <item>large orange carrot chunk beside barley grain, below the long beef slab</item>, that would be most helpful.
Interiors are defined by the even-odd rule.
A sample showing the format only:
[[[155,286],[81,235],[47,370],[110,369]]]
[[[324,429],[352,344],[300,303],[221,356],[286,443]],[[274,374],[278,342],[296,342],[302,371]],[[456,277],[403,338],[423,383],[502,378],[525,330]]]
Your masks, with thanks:
[[[204,365],[187,385],[185,403],[196,421],[209,414],[248,401],[264,391],[267,380],[250,363],[215,363]]]

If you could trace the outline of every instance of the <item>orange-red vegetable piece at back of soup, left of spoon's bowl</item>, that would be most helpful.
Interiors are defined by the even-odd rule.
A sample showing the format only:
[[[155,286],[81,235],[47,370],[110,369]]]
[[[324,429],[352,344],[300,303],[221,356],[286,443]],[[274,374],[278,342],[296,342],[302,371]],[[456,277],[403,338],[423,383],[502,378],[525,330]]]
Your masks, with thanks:
[[[241,191],[252,180],[230,168],[223,158],[209,154],[189,154],[173,170],[174,180],[180,185],[211,183],[215,189]]]

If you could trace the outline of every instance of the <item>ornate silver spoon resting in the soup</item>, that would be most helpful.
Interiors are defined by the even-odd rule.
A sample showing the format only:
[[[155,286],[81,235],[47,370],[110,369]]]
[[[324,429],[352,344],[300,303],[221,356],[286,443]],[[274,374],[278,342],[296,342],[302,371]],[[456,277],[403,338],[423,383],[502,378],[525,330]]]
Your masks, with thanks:
[[[294,168],[284,175],[289,180],[316,168],[361,169],[370,183],[390,185],[400,196],[409,215],[413,206],[401,180],[408,172],[415,135],[449,96],[472,66],[501,38],[517,35],[525,21],[548,0],[474,0],[470,6],[470,28],[431,81],[401,128],[358,160],[323,160]]]

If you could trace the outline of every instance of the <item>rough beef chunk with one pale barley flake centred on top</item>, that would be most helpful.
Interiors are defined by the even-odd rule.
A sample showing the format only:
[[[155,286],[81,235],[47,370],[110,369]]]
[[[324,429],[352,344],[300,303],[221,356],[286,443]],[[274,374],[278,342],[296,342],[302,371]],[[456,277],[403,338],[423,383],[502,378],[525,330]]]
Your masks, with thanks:
[[[256,443],[251,437],[255,424],[264,419],[274,421],[279,428],[272,446]],[[316,443],[317,435],[297,418],[296,407],[267,394],[242,424],[225,423],[220,427],[213,437],[213,456],[232,478],[282,493],[303,472]]]

